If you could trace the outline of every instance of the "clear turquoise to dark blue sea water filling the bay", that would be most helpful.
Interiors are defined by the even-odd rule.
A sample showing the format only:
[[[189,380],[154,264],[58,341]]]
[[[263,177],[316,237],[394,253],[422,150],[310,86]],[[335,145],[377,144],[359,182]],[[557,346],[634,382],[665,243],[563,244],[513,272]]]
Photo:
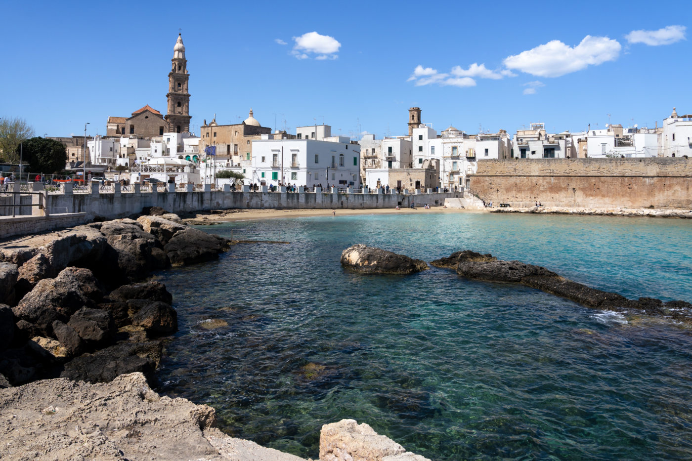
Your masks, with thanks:
[[[318,457],[322,424],[367,422],[433,460],[692,458],[692,335],[512,284],[431,269],[343,271],[355,243],[424,260],[459,249],[623,295],[692,300],[692,224],[608,217],[370,215],[204,228],[244,244],[158,276],[180,331],[161,392],[221,427]],[[228,327],[207,331],[209,318]]]

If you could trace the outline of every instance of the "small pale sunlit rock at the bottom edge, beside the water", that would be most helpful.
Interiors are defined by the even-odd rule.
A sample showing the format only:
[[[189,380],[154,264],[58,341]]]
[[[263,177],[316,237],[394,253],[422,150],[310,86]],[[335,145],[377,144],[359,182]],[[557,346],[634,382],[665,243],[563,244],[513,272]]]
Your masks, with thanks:
[[[320,461],[381,461],[404,453],[403,446],[354,419],[325,424],[320,431]]]

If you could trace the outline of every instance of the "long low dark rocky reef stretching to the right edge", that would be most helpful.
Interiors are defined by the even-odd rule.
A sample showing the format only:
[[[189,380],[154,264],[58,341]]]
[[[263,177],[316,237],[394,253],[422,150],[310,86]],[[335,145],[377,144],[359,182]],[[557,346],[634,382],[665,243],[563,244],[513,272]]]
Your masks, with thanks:
[[[567,298],[592,309],[617,312],[641,311],[652,316],[666,316],[692,324],[692,304],[685,301],[669,301],[654,298],[630,300],[617,293],[602,291],[568,280],[545,267],[525,264],[520,261],[502,261],[493,255],[475,251],[457,251],[449,257],[432,261],[430,264],[446,269],[455,269],[459,275],[486,282],[512,282],[540,289],[546,293]]]

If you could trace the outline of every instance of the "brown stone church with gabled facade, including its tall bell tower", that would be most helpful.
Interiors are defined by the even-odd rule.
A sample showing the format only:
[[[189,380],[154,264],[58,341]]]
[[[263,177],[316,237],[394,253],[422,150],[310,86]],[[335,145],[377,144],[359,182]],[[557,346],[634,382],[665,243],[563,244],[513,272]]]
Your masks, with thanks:
[[[190,132],[190,93],[188,92],[188,60],[185,59],[183,37],[179,34],[173,47],[171,71],[168,73],[168,114],[163,116],[149,105],[132,112],[129,117],[109,117],[106,136],[154,138],[164,133]]]

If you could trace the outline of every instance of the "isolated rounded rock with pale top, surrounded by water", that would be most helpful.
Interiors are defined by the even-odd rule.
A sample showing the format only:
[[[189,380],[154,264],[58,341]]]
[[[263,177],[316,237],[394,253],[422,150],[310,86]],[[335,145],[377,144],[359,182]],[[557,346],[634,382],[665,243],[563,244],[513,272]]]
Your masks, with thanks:
[[[429,269],[425,261],[363,244],[346,248],[341,253],[341,265],[361,273],[410,274]]]

